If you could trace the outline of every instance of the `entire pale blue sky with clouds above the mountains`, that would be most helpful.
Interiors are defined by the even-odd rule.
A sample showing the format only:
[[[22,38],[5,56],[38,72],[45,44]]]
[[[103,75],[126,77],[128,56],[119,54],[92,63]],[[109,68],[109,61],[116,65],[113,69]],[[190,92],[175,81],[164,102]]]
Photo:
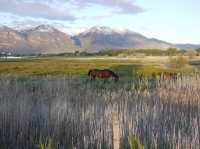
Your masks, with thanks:
[[[127,28],[172,43],[200,44],[199,0],[0,0],[0,24]]]

